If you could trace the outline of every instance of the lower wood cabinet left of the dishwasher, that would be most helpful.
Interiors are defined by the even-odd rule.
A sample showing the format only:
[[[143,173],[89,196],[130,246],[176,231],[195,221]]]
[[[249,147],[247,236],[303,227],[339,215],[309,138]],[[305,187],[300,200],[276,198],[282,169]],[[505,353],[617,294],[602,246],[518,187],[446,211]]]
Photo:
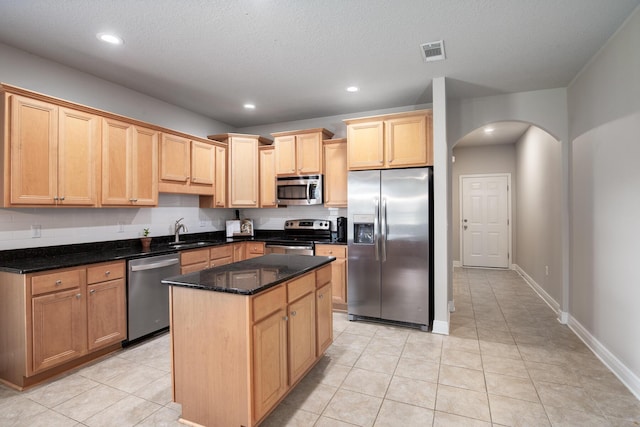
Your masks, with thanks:
[[[0,324],[12,325],[0,328],[0,380],[23,389],[120,348],[124,272],[124,261],[0,272]]]

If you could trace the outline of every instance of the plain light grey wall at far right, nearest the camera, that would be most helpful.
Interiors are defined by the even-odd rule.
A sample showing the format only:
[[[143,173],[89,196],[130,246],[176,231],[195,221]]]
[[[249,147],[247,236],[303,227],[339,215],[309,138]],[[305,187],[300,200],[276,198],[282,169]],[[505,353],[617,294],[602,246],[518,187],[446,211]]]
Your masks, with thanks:
[[[570,325],[640,397],[640,8],[568,88]]]

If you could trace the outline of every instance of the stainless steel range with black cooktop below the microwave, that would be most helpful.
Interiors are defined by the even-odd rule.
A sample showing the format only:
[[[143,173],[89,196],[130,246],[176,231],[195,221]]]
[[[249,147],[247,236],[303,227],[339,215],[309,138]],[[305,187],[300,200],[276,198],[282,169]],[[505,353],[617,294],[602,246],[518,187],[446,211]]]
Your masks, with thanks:
[[[290,219],[284,223],[282,237],[269,239],[265,254],[313,255],[314,243],[331,241],[331,221]]]

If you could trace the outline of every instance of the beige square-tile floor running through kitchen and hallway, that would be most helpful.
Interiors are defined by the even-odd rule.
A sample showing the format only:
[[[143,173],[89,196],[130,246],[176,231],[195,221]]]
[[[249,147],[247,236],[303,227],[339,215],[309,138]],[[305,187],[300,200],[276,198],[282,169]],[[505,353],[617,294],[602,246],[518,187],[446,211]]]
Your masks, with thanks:
[[[326,356],[263,425],[640,425],[640,401],[517,273],[456,269],[454,293],[450,336],[336,314]],[[164,335],[23,393],[0,386],[0,426],[180,425],[168,349]]]

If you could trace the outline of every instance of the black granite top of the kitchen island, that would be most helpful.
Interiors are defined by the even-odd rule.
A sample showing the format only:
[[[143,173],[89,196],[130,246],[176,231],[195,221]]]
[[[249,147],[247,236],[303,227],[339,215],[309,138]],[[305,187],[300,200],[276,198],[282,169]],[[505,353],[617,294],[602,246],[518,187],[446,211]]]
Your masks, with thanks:
[[[335,257],[269,254],[182,276],[168,277],[162,280],[162,283],[207,291],[254,295],[334,260]]]

